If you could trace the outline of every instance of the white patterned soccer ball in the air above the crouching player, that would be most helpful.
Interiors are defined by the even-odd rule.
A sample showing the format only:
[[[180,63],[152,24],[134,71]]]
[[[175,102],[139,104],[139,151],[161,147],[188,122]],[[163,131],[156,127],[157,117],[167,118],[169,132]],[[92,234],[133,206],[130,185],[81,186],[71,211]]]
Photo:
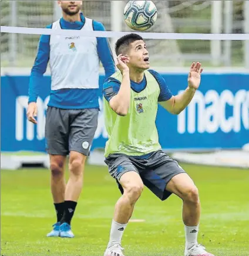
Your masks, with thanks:
[[[157,8],[152,1],[129,1],[124,8],[124,21],[137,31],[151,28],[157,19]]]

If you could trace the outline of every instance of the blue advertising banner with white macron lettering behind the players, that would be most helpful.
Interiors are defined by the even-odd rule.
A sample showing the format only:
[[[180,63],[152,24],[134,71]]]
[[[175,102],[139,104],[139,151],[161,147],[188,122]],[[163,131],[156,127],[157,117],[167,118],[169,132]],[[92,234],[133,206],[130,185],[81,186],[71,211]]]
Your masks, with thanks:
[[[162,74],[173,94],[187,86],[187,74]],[[100,75],[100,88],[103,84]],[[38,98],[38,124],[26,119],[28,76],[1,77],[1,151],[45,152],[45,112],[51,77]],[[100,89],[99,125],[92,149],[104,148],[107,134]],[[249,142],[249,74],[203,74],[189,107],[171,115],[159,107],[156,120],[161,147],[168,150],[241,148]],[[146,125],[146,124],[144,124]]]

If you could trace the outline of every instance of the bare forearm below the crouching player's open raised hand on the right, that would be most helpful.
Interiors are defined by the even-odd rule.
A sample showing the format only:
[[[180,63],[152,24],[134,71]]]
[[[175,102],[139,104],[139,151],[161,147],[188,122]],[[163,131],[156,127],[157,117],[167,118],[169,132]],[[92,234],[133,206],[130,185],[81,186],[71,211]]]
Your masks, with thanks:
[[[179,95],[176,95],[174,97],[172,112],[174,114],[180,114],[180,112],[183,111],[183,109],[185,109],[187,105],[190,104],[190,101],[191,99],[193,99],[195,92],[196,89],[188,87],[184,92],[182,92]]]

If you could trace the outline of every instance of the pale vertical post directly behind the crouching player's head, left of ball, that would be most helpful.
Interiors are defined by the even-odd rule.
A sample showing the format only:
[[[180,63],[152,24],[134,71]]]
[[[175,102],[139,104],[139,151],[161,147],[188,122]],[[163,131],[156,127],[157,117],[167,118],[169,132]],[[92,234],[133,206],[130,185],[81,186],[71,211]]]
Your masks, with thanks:
[[[122,31],[123,22],[123,1],[110,1],[111,2],[111,30],[112,31]],[[111,46],[113,50],[113,55],[115,55],[114,46],[118,38],[111,38]],[[116,56],[116,55],[115,55]]]

